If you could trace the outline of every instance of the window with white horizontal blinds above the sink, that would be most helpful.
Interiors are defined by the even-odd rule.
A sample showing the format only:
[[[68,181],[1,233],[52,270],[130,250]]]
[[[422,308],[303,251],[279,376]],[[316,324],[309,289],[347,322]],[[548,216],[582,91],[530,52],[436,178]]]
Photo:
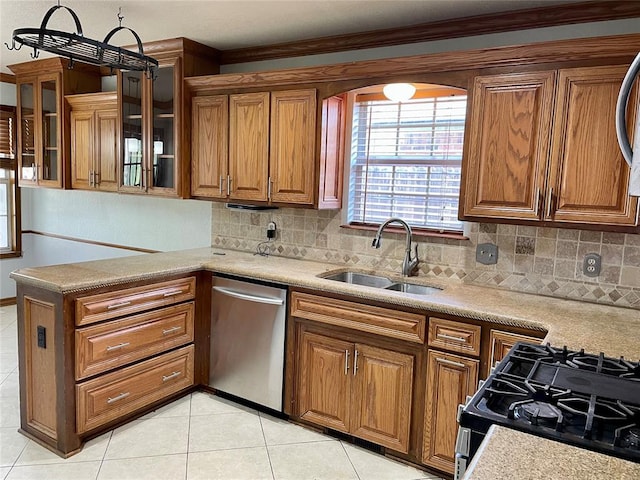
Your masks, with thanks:
[[[400,217],[412,227],[462,232],[458,220],[467,97],[419,90],[407,102],[360,94],[353,105],[350,225]]]

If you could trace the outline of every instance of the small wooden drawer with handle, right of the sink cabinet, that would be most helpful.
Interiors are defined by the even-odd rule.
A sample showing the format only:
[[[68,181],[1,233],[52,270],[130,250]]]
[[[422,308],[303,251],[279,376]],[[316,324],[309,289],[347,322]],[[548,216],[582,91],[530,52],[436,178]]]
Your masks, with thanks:
[[[480,326],[443,318],[429,318],[429,346],[480,355]]]

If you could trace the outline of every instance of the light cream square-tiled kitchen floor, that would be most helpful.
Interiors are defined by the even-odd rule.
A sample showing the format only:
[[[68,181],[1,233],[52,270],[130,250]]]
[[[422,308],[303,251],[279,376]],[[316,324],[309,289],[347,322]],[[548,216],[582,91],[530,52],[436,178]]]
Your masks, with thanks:
[[[438,480],[427,472],[196,392],[66,460],[17,432],[15,306],[0,307],[0,479]]]

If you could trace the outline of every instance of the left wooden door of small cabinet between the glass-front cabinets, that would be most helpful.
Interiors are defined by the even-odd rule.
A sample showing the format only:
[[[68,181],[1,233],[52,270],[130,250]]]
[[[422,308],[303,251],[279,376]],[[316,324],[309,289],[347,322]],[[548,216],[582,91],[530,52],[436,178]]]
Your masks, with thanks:
[[[91,188],[94,129],[92,111],[71,112],[71,188]]]

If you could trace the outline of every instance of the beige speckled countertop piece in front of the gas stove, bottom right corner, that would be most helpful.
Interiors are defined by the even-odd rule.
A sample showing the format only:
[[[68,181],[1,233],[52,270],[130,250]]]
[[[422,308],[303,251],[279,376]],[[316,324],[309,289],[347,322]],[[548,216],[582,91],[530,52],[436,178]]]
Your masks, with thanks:
[[[640,464],[493,425],[463,480],[637,480]]]

